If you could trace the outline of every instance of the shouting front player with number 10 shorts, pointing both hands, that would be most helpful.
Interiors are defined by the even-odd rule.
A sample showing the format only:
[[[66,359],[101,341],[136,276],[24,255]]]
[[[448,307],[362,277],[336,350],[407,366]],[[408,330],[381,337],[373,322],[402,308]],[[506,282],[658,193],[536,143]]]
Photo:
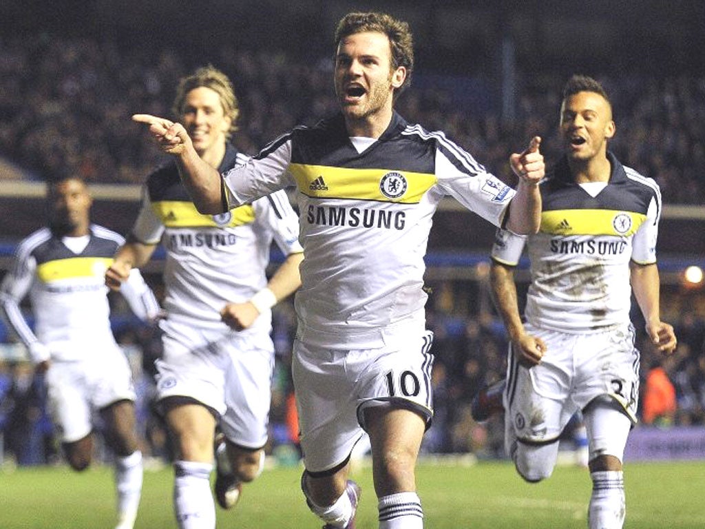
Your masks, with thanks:
[[[535,231],[544,162],[539,138],[513,154],[515,191],[443,133],[394,111],[413,70],[407,23],[350,13],[335,42],[341,113],[294,128],[222,177],[197,156],[180,123],[134,118],[175,155],[203,212],[298,188],[305,258],[293,376],[307,504],[326,528],[353,527],[360,488],[348,480],[349,459],[366,430],[379,527],[421,528],[415,463],[432,414],[432,335],[424,328],[422,288],[431,217],[451,195],[498,226]]]

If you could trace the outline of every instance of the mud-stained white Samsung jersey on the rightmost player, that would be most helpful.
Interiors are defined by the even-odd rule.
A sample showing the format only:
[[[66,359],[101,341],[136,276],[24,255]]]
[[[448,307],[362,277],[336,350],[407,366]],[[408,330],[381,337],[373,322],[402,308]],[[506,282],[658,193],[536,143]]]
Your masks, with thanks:
[[[629,322],[629,262],[656,262],[661,193],[651,178],[609,154],[612,174],[596,195],[572,181],[565,159],[541,183],[539,233],[498,230],[492,258],[531,263],[525,317],[537,327],[597,332]]]

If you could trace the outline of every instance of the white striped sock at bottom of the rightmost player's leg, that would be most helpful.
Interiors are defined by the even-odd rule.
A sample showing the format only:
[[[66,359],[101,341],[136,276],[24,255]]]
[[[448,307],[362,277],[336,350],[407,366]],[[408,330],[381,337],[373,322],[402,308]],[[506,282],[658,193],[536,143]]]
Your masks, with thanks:
[[[622,529],[626,511],[624,474],[617,471],[593,472],[592,497],[588,510],[590,529]]]

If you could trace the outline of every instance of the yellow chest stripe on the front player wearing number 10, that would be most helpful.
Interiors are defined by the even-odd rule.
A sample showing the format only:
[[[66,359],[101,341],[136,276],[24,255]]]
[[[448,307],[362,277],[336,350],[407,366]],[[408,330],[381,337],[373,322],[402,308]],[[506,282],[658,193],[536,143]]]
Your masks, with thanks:
[[[410,171],[305,164],[291,164],[289,169],[301,193],[314,198],[417,204],[436,183],[434,174]]]

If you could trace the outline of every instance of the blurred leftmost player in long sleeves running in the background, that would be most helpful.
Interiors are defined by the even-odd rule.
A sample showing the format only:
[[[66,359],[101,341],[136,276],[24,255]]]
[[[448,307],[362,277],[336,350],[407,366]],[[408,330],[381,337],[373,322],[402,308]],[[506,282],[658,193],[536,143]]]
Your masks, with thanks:
[[[131,529],[142,492],[142,453],[137,449],[130,366],[111,332],[103,280],[124,239],[91,224],[91,204],[80,178],[49,183],[49,226],[18,245],[0,300],[36,370],[46,372],[51,413],[74,470],[90,465],[92,411],[102,416],[106,444],[116,456],[117,527]],[[125,278],[120,291],[136,315],[144,320],[157,317],[159,305],[139,271]],[[27,293],[36,334],[20,312]]]

